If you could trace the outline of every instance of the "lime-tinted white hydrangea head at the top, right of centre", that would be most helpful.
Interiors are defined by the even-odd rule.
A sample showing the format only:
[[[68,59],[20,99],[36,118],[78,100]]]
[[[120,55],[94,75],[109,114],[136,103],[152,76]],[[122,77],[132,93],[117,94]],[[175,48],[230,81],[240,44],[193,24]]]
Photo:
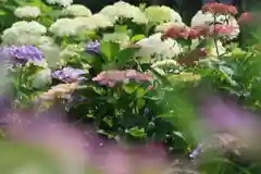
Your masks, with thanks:
[[[152,23],[183,23],[182,16],[176,11],[165,5],[150,5],[145,9],[145,14]]]

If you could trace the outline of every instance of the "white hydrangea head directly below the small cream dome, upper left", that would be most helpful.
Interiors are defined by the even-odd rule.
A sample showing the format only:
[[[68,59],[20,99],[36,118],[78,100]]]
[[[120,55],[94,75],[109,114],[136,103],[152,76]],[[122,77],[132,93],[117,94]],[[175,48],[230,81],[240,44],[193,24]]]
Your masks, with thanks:
[[[59,18],[49,30],[58,37],[76,36],[83,26],[84,23],[75,18]]]

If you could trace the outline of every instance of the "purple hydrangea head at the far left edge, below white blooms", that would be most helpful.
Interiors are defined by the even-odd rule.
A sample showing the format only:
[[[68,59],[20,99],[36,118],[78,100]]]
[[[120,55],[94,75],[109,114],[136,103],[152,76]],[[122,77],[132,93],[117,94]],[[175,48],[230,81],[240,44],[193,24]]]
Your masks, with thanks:
[[[44,53],[34,46],[4,47],[2,48],[2,52],[21,62],[41,62],[44,59]]]

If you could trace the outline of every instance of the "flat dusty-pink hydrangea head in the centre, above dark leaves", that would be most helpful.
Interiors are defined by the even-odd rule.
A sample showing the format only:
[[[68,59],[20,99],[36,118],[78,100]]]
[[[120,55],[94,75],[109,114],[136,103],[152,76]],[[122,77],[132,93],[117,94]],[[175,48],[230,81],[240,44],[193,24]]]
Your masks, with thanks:
[[[134,79],[136,82],[148,82],[151,80],[152,77],[148,74],[142,74],[135,70],[112,70],[103,71],[92,78],[94,82],[98,82],[101,85],[108,85],[110,87],[115,86],[117,83],[126,83],[130,79]]]

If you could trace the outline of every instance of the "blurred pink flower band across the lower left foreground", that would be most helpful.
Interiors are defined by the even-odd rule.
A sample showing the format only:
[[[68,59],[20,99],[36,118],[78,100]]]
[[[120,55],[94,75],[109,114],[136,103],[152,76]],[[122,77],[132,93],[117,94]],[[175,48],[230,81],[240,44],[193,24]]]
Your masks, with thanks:
[[[64,171],[63,174],[84,174],[88,166],[101,174],[159,174],[169,165],[164,146],[149,144],[144,147],[101,147],[97,146],[100,138],[92,136],[90,130],[83,132],[61,120],[54,122],[45,116],[10,114],[8,136],[51,152]]]

